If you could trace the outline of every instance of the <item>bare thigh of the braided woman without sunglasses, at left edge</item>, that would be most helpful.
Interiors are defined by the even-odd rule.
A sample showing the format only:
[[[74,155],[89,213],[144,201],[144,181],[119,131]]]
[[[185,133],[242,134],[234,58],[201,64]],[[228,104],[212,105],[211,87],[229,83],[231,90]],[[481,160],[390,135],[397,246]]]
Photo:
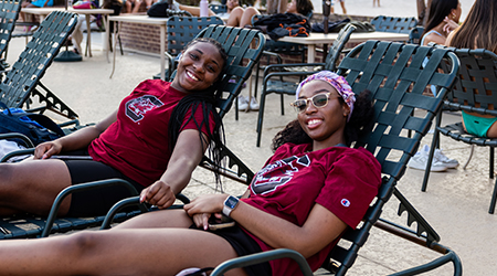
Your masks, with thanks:
[[[46,215],[59,192],[70,185],[68,169],[61,160],[0,163],[0,215],[17,212]],[[70,204],[71,197],[64,200],[59,214],[66,214]]]

